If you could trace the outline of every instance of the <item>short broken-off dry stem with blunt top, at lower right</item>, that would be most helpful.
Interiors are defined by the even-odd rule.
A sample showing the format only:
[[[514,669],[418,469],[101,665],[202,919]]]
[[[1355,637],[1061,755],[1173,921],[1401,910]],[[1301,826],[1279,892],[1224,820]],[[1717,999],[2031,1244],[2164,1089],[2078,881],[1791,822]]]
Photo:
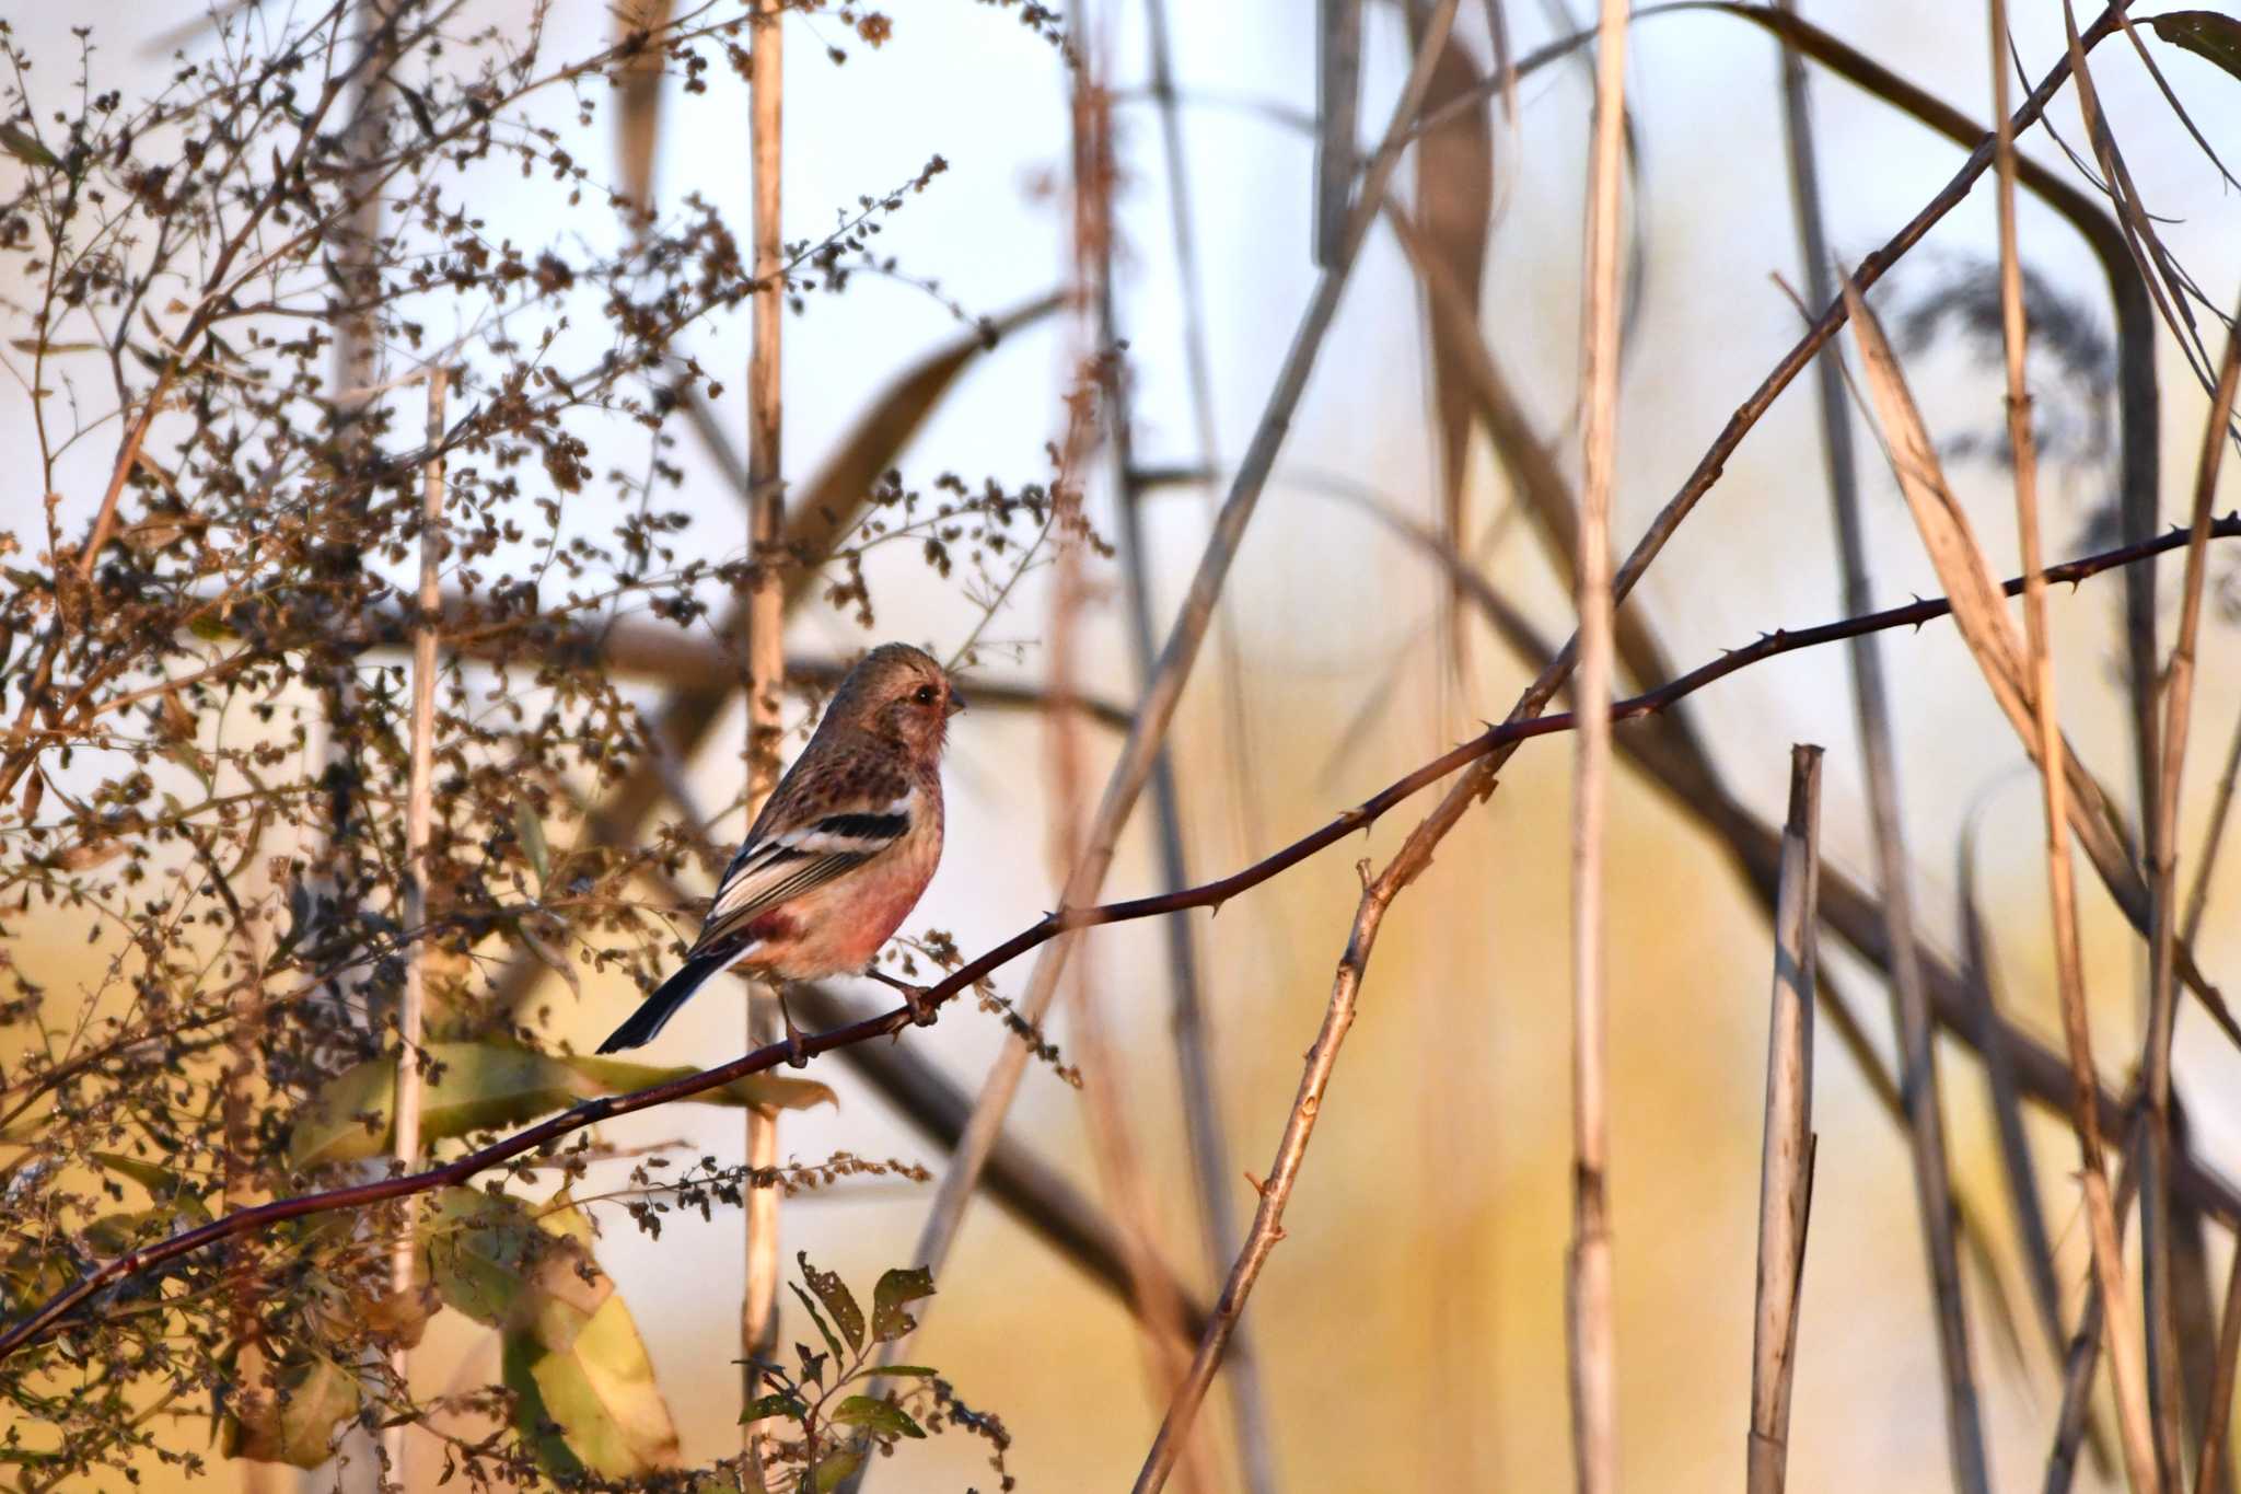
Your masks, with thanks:
[[[1797,1299],[1813,1207],[1813,992],[1820,930],[1820,759],[1791,748],[1791,818],[1775,900],[1775,983],[1766,1019],[1766,1131],[1759,1149],[1759,1277],[1750,1344],[1750,1494],[1788,1478]]]

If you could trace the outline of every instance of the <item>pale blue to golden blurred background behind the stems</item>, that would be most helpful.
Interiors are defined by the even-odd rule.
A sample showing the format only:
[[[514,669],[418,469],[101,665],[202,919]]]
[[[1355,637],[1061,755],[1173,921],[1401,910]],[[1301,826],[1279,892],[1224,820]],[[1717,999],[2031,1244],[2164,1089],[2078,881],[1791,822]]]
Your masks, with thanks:
[[[482,0],[482,18],[504,22],[515,0]],[[108,85],[137,94],[166,72],[143,49],[193,7],[117,4],[99,13],[67,4],[7,4],[18,38],[45,63],[40,87],[74,72],[69,27],[92,22]],[[1208,298],[1212,403],[1221,459],[1233,461],[1259,417],[1277,361],[1313,287],[1311,141],[1250,105],[1313,110],[1313,7],[1230,2],[1172,4],[1177,83],[1192,172],[1194,222]],[[1986,25],[1977,7],[1925,0],[1815,0],[1820,25],[1882,58],[1912,81],[1988,116]],[[1557,27],[1542,7],[1508,7],[1519,52]],[[1138,457],[1147,466],[1199,459],[1183,365],[1183,309],[1168,222],[1168,188],[1154,110],[1141,101],[1147,38],[1141,4],[1089,7],[1089,34],[1125,96],[1120,121],[1123,325],[1138,370]],[[2062,52],[2053,7],[2021,7],[2017,45],[2037,78]],[[610,16],[592,0],[562,0],[547,20],[547,47],[592,49]],[[1069,273],[1067,94],[1051,47],[1006,9],[899,7],[894,38],[870,49],[838,20],[789,22],[787,237],[827,231],[861,193],[910,179],[926,157],[948,161],[876,240],[912,276],[975,314],[997,314],[1056,289]],[[829,36],[827,36],[829,31]],[[1365,132],[1383,128],[1405,65],[1394,7],[1369,9]],[[1463,7],[1461,34],[1486,58],[1484,13]],[[847,43],[845,65],[822,43]],[[197,43],[186,43],[188,47]],[[1643,18],[1629,56],[1629,101],[1640,139],[1634,202],[1647,278],[1631,329],[1620,417],[1620,484],[1614,538],[1625,547],[1672,495],[1730,410],[1797,334],[1797,311],[1775,276],[1797,282],[1782,164],[1775,47],[1755,27],[1717,13]],[[2172,49],[2158,54],[2196,123],[2228,159],[2241,157],[2237,81]],[[2172,215],[2165,242],[2223,307],[2241,287],[2241,197],[2180,125],[2122,40],[2095,54],[2095,78],[2149,206]],[[1831,240],[1856,260],[1936,193],[1961,152],[1829,76],[1815,76]],[[1544,69],[1519,90],[1515,128],[1497,137],[1497,204],[1486,273],[1484,334],[1526,394],[1566,468],[1578,468],[1571,426],[1578,343],[1580,181],[1589,83],[1580,67]],[[663,204],[704,193],[746,220],[746,105],[737,81],[717,76],[704,96],[670,92],[659,159]],[[2051,119],[2084,139],[2075,99]],[[567,101],[554,123],[574,128]],[[2035,132],[2037,159],[2068,170]],[[612,150],[601,125],[578,155],[601,175]],[[1405,175],[1403,175],[1405,179]],[[1058,190],[1053,190],[1058,188]],[[493,172],[477,197],[491,222],[524,244],[614,242],[603,208],[565,222],[556,197]],[[2091,255],[2039,204],[2024,199],[2026,262],[2066,298],[2091,309],[2113,336]],[[1889,307],[1934,293],[1956,267],[1992,253],[1990,186],[1954,211],[1889,282]],[[811,475],[863,401],[923,349],[957,334],[926,293],[858,278],[845,296],[811,296],[787,323],[787,473]],[[686,338],[728,385],[722,410],[744,430],[744,314]],[[2216,345],[2212,340],[2212,345]],[[1049,473],[1044,443],[1062,435],[1060,394],[1082,352],[1062,318],[1008,338],[970,370],[910,446],[914,484],[955,470],[966,482],[1008,484]],[[2205,399],[2163,338],[2165,522],[2185,513]],[[1997,428],[1999,370],[1947,338],[1914,363],[1941,439]],[[1436,647],[1436,573],[1407,542],[1360,506],[1333,499],[1329,479],[1371,488],[1392,508],[1430,520],[1436,455],[1430,423],[1425,320],[1414,280],[1392,237],[1374,233],[1347,289],[1340,318],[1293,421],[1275,482],[1230,578],[1226,605],[1244,661],[1224,676],[1221,652],[1201,659],[1174,744],[1185,784],[1190,856],[1199,876],[1246,865],[1313,829],[1416,762],[1461,739],[1479,719],[1504,715],[1531,670],[1472,625],[1461,679],[1443,679]],[[22,439],[25,401],[0,399],[0,450]],[[63,484],[63,529],[76,531],[99,502],[103,443],[78,455]],[[641,450],[639,446],[630,450]],[[697,515],[701,553],[740,553],[744,517],[733,493],[690,443],[697,473],[677,499]],[[594,466],[601,457],[594,452]],[[1994,567],[2015,569],[2006,473],[1986,459],[1954,464]],[[1865,504],[1878,600],[1936,594],[1873,443],[1862,443]],[[2100,549],[2086,529],[2107,495],[2107,459],[2046,475],[2048,551]],[[1103,464],[1089,486],[1091,517],[1112,533]],[[2219,508],[2241,497],[2228,470]],[[38,495],[7,488],[4,526],[36,526]],[[603,529],[601,497],[587,497],[585,529]],[[1472,446],[1466,535],[1477,540],[1508,508],[1506,486]],[[1172,605],[1208,529],[1201,488],[1163,488],[1145,513],[1159,598]],[[574,522],[574,520],[571,520]],[[1551,578],[1524,522],[1499,531],[1488,578],[1546,632],[1569,627],[1569,600]],[[2178,564],[2163,587],[2176,596]],[[2212,558],[2212,578],[2232,560]],[[1049,573],[1038,571],[988,629],[991,674],[1040,679],[1047,665]],[[1134,703],[1118,573],[1096,562],[1080,659],[1091,694]],[[2129,804],[2131,744],[2122,717],[2120,594],[2116,578],[2055,594],[2055,645],[2064,726],[2104,782]],[[973,623],[970,605],[941,589],[908,555],[874,567],[883,636],[946,652]],[[1726,477],[1643,585],[1640,605],[1683,667],[1777,625],[1840,616],[1835,542],[1822,482],[1808,385],[1793,387],[1759,423]],[[2196,737],[2180,815],[2180,878],[2241,710],[2232,620],[2212,600],[2196,697]],[[706,625],[704,625],[706,627]],[[2165,638],[2169,629],[2165,632]],[[836,654],[872,638],[854,623],[811,609],[789,645]],[[1927,934],[1950,947],[1954,847],[1968,813],[1983,804],[1981,894],[1997,939],[2010,1012],[2057,1039],[2046,939],[2039,806],[2021,753],[1990,703],[1954,632],[1889,634],[1905,815],[1914,851],[1916,909]],[[1242,697],[1246,741],[1230,735],[1228,692]],[[657,699],[648,690],[645,701]],[[1383,706],[1378,706],[1383,701]],[[1358,712],[1376,715],[1351,730]],[[1871,867],[1851,697],[1835,650],[1752,667],[1690,701],[1730,786],[1779,820],[1793,741],[1829,748],[1824,847],[1856,876]],[[796,703],[793,712],[800,715]],[[708,802],[737,793],[742,712],[733,712],[695,762]],[[1091,779],[1103,782],[1116,737],[1091,735]],[[791,748],[789,748],[791,750]],[[1237,757],[1248,753],[1246,757]],[[1273,1413],[1286,1490],[1363,1487],[1557,1487],[1569,1481],[1569,1420],[1562,1337],[1562,1252],[1569,1236],[1569,995],[1566,995],[1566,741],[1526,746],[1501,788],[1445,842],[1432,871],[1410,889],[1378,945],[1363,1017],[1342,1053],[1322,1124],[1275,1250],[1246,1313]],[[1049,865],[1047,744],[1035,717],[968,715],[955,732],[948,773],[950,849],[910,930],[941,927],[966,952],[1015,932],[1056,898]],[[1138,809],[1107,883],[1116,896],[1156,887],[1150,804]],[[1233,1176],[1264,1174],[1300,1077],[1345,941],[1358,856],[1383,858],[1414,822],[1405,806],[1367,842],[1349,840],[1277,883],[1192,916],[1217,1033],[1221,1107]],[[735,835],[733,820],[722,833]],[[1741,1481],[1755,1261],[1759,1104],[1770,943],[1755,900],[1717,844],[1652,786],[1620,773],[1611,818],[1611,1093],[1614,1216],[1618,1270],[1618,1407],[1625,1481],[1640,1490],[1730,1490]],[[2228,858],[2212,889],[2198,947],[2212,977],[2241,961],[2241,869]],[[2095,1037],[2104,1073],[2122,1082],[2138,1048],[2145,959],[2107,896],[2086,883],[2086,954]],[[52,945],[43,943],[47,936]],[[1824,956],[1889,1053],[1887,999],[1849,952]],[[16,959],[61,977],[87,959],[83,930],[31,930]],[[1174,1082],[1165,952],[1150,925],[1094,936],[1082,965],[1120,1044],[1127,1118],[1156,1198],[1163,1245],[1201,1299],[1215,1277],[1199,1250],[1194,1194]],[[999,977],[1015,995],[1026,965]],[[565,1035],[589,1046],[627,1008],[621,979],[592,977],[585,1001],[549,983]],[[1069,1019],[1056,1019],[1067,1042]],[[979,1086],[1002,1042],[993,1019],[952,1012],[905,1037],[968,1091]],[[742,1017],[731,992],[695,1003],[648,1057],[719,1062],[740,1051]],[[1983,1100],[1981,1068],[1965,1048],[1941,1044],[1956,1187],[1992,1225],[1992,1266],[1968,1259],[1977,1373],[1994,1487],[2035,1487],[2059,1393],[2057,1371],[2028,1319],[2021,1268],[2006,1230],[2008,1210]],[[2178,1086],[2192,1107],[2201,1156],[2241,1176],[2241,1062],[2185,1010]],[[863,1082],[831,1062],[816,1077],[840,1091],[838,1109],[787,1115],[784,1156],[818,1160],[836,1149],[923,1160],[943,1154],[887,1113]],[[1815,1127],[1820,1156],[1804,1270],[1797,1389],[1791,1427],[1793,1487],[1914,1490],[1945,1483],[1936,1339],[1900,1133],[1822,1028]],[[1031,1066],[1011,1133],[1098,1194],[1080,1095]],[[684,1138],[686,1156],[737,1160],[735,1111],[672,1107],[603,1129],[621,1147]],[[2084,1281],[2084,1234],[2068,1183],[2075,1167],[2066,1127],[2039,1115],[2042,1196],[2057,1232],[2066,1313]],[[1250,1192],[1235,1180],[1235,1210]],[[784,1257],[809,1250],[856,1283],[908,1263],[932,1189],[892,1180],[854,1183],[784,1205]],[[737,1449],[735,1304],[740,1216],[713,1223],[672,1216],[659,1243],[627,1221],[610,1221],[603,1263],[645,1330],[661,1386],[690,1460]],[[2225,1270],[2223,1236],[2212,1270]],[[982,1201],[941,1274],[928,1333],[912,1351],[952,1375],[975,1407],[1002,1413],[1015,1436],[1008,1458],[1024,1490],[1109,1490],[1134,1474],[1159,1425],[1127,1315],[1116,1299]],[[2012,1304],[2017,1328],[2001,1326]],[[784,1337],[807,1333],[787,1299]],[[417,1355],[424,1389],[495,1378],[486,1330],[450,1317]],[[1201,1427],[1228,1463],[1230,1420],[1217,1400]],[[177,1436],[199,1442],[202,1422]],[[991,1487],[982,1447],[961,1436],[910,1445],[876,1469],[894,1490]],[[435,1469],[424,1469],[433,1476]],[[217,1487],[238,1474],[215,1467]],[[1226,1474],[1228,1476],[1228,1474]],[[173,1469],[148,1467],[150,1487]],[[325,1474],[314,1485],[332,1483]],[[2086,1465],[2080,1487],[2104,1487],[2107,1467]]]

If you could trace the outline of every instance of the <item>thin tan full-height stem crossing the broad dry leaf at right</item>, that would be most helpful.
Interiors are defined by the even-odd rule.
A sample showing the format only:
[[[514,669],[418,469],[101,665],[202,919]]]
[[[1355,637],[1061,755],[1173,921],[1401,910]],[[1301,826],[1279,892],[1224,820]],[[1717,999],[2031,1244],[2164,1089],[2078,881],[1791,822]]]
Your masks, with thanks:
[[[2100,1080],[2093,1068],[2093,1037],[2086,1024],[2084,970],[2077,950],[2077,885],[2071,871],[2071,813],[2066,748],[2055,710],[2055,667],[2046,632],[2046,573],[2039,553],[2037,450],[2030,435],[2030,390],[2024,383],[2028,327],[2024,320],[2024,273],[2015,244],[2015,132],[2008,123],[2008,16],[2003,0],[1990,0],[1992,18],[1992,128],[1999,172],[1999,309],[2008,370],[2008,443],[2015,461],[2015,524],[2024,560],[2024,636],[2030,703],[2037,717],[2039,782],[2046,806],[2046,885],[2055,916],[2055,970],[2062,988],[2062,1028],[2071,1051],[2077,1151],[2084,1167],[2086,1223],[2093,1241],[2093,1274],[2102,1290],[2102,1330],[2109,1337],[2109,1369],[2116,1378],[2118,1425],[2133,1490],[2160,1490],[2163,1467],[2142,1386],[2142,1364],[2131,1335],[2124,1297],[2124,1254],[2116,1236],[2109,1174],[2102,1160]],[[2073,65],[2082,60],[2073,34]],[[2149,1279],[2154,1279],[2149,1270]],[[2176,1360],[2174,1360],[2176,1362]],[[2176,1384],[2167,1386],[2176,1393]],[[2176,1472],[2176,1469],[2174,1469]]]

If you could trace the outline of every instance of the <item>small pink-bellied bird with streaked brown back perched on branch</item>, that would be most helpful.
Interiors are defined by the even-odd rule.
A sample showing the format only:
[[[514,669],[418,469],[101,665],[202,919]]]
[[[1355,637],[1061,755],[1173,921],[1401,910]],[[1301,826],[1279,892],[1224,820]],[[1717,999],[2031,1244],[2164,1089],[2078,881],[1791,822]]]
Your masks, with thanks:
[[[865,654],[724,869],[686,963],[598,1051],[650,1044],[717,970],[773,983],[865,970],[941,860],[941,744],[964,708],[908,643]]]

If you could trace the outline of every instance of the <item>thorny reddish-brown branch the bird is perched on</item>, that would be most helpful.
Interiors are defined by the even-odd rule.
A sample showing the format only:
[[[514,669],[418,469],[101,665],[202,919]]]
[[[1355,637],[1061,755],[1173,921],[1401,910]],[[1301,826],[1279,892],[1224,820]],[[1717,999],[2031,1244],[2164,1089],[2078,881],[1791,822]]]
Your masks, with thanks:
[[[2230,513],[2221,520],[2212,520],[2207,538],[2216,540],[2241,538],[2241,513]],[[2147,544],[2127,544],[2122,549],[2104,551],[2100,555],[2086,555],[2082,560],[2071,560],[2066,564],[2048,567],[2046,580],[2075,585],[2086,580],[2089,576],[2133,564],[2149,555],[2160,555],[2163,551],[2183,549],[2187,540],[2189,540],[2187,531],[2172,531],[2167,535],[2149,540]],[[2021,578],[2008,580],[2003,585],[2003,591],[2008,596],[2015,596],[2021,589],[2024,589]],[[1822,643],[1835,643],[1840,638],[1853,638],[1860,634],[1882,632],[1891,627],[1921,627],[1923,623],[1932,623],[1945,616],[1947,611],[1952,611],[1952,605],[1945,603],[1943,598],[1934,598],[1934,600],[1912,603],[1907,607],[1889,607],[1885,611],[1876,611],[1860,618],[1847,618],[1842,623],[1824,623],[1820,627],[1804,627],[1795,632],[1773,632],[1761,636],[1757,643],[1741,650],[1732,650],[1721,659],[1714,659],[1712,663],[1705,663],[1674,681],[1667,681],[1665,685],[1658,685],[1656,690],[1647,690],[1627,701],[1618,701],[1616,706],[1611,706],[1611,719],[1629,721],[1634,717],[1654,715],[1672,706],[1674,701],[1719,679],[1726,679],[1737,670],[1743,670],[1764,659],[1773,659],[1775,654],[1788,654],[1795,650],[1815,647]],[[1004,943],[995,945],[979,959],[950,972],[943,981],[930,986],[921,995],[921,1001],[926,1006],[941,1006],[952,997],[957,997],[959,992],[973,988],[977,981],[986,979],[995,970],[1020,959],[1029,950],[1035,950],[1071,930],[1098,927],[1105,923],[1129,923],[1134,918],[1156,918],[1161,914],[1177,914],[1194,907],[1219,909],[1237,894],[1250,891],[1253,887],[1259,887],[1262,883],[1282,876],[1291,867],[1336,844],[1338,840],[1345,840],[1354,831],[1367,831],[1389,809],[1416,795],[1419,791],[1428,788],[1430,784],[1436,784],[1457,768],[1463,768],[1481,757],[1488,757],[1490,753],[1513,741],[1522,741],[1526,737],[1549,737],[1555,732],[1571,730],[1573,726],[1575,717],[1571,712],[1490,726],[1470,741],[1463,741],[1461,746],[1450,748],[1448,753],[1419,766],[1414,773],[1394,779],[1392,784],[1369,795],[1354,809],[1345,811],[1329,824],[1311,831],[1309,835],[1302,835],[1289,847],[1226,878],[1201,883],[1199,887],[1183,887],[1179,891],[1168,891],[1150,898],[1129,898],[1123,903],[1103,903],[1096,907],[1047,914],[1033,925],[1006,939]],[[903,1028],[908,1028],[910,1021],[912,1021],[910,1008],[896,1006],[876,1017],[849,1021],[845,1026],[829,1028],[825,1033],[802,1035],[800,1053],[813,1057],[818,1053],[831,1053],[834,1048],[861,1044],[872,1037],[896,1035]],[[424,1194],[437,1187],[455,1187],[466,1183],[480,1171],[540,1151],[547,1145],[560,1140],[562,1136],[583,1131],[585,1127],[594,1127],[616,1115],[630,1115],[636,1111],[654,1109],[659,1104],[670,1104],[672,1100],[688,1100],[710,1089],[731,1084],[733,1080],[742,1080],[751,1073],[764,1073],[778,1068],[780,1064],[787,1062],[787,1057],[789,1057],[787,1044],[771,1044],[753,1053],[746,1053],[728,1064],[722,1064],[717,1068],[704,1068],[701,1073],[686,1075],[681,1080],[670,1080],[666,1084],[654,1084],[652,1089],[632,1091],[627,1095],[603,1095],[598,1100],[585,1100],[583,1104],[569,1111],[551,1115],[549,1120],[542,1120],[524,1131],[515,1131],[513,1136],[500,1138],[489,1147],[468,1151],[466,1156],[455,1158],[441,1167],[430,1167],[426,1171],[401,1174],[392,1178],[379,1178],[374,1183],[359,1183],[352,1187],[336,1187],[318,1194],[303,1194],[298,1198],[278,1198],[273,1203],[264,1203],[253,1210],[240,1210],[235,1214],[213,1218],[206,1225],[199,1225],[195,1230],[184,1230],[155,1245],[132,1250],[87,1272],[85,1279],[81,1279],[76,1286],[47,1299],[40,1308],[36,1308],[20,1322],[11,1324],[7,1330],[0,1330],[0,1360],[22,1348],[25,1344],[47,1335],[78,1304],[87,1301],[105,1286],[137,1277],[146,1270],[152,1270],[155,1266],[161,1266],[164,1261],[175,1261],[206,1245],[215,1245],[220,1241],[264,1230],[285,1223],[289,1218],[303,1218],[307,1214],[325,1214],[334,1210],[359,1210],[376,1203],[388,1203],[392,1198],[408,1198],[412,1194]]]

